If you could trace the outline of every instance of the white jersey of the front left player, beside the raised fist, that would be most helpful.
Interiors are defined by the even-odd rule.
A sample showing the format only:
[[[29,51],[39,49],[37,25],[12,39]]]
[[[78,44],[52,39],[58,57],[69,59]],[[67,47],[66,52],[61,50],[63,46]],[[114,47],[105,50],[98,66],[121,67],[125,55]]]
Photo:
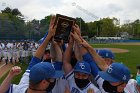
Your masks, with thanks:
[[[18,85],[12,84],[6,93],[25,93],[29,86],[29,73],[25,72]]]

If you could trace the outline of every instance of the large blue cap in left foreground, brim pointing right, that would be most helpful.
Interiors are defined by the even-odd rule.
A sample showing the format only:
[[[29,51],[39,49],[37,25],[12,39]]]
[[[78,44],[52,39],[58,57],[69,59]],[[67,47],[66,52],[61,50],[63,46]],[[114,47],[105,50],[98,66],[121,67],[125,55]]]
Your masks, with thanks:
[[[34,82],[39,82],[49,78],[60,78],[62,74],[63,73],[60,71],[55,71],[53,64],[49,62],[41,62],[31,68],[29,79]]]

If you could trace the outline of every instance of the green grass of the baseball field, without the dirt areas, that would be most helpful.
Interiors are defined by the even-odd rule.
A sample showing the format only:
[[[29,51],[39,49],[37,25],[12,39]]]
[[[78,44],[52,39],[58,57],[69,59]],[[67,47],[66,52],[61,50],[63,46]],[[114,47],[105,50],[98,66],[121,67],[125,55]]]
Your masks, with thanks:
[[[121,48],[121,49],[127,49],[129,50],[128,53],[115,53],[115,61],[116,62],[122,62],[126,66],[130,68],[131,74],[134,76],[136,75],[136,65],[140,64],[139,58],[140,58],[140,46],[138,45],[114,45],[114,44],[92,44],[94,48]],[[22,73],[18,76],[16,76],[13,80],[12,83],[18,84],[19,80],[22,77],[22,74],[25,72],[27,68],[27,64],[18,64],[18,66],[21,66],[22,68]],[[0,83],[3,81],[3,79],[6,77],[2,77],[0,79]]]

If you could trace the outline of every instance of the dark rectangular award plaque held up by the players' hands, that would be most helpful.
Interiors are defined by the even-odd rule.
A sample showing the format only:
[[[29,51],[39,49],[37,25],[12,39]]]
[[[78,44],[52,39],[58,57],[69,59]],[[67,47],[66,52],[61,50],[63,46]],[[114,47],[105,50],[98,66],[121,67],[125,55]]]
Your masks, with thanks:
[[[69,41],[70,32],[72,31],[72,26],[75,24],[75,22],[75,18],[56,14],[55,25],[57,26],[54,40],[63,40],[64,43],[67,43]]]

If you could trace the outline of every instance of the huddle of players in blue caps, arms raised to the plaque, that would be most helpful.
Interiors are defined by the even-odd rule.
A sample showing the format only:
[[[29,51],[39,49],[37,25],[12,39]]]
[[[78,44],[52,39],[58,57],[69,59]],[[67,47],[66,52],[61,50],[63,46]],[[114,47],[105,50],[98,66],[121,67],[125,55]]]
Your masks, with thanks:
[[[130,70],[115,62],[110,50],[94,49],[74,25],[67,44],[55,41],[55,16],[49,32],[30,61],[18,85],[11,84],[21,73],[14,66],[0,86],[0,93],[140,93],[140,72],[131,79]],[[51,61],[42,60],[50,43]]]

